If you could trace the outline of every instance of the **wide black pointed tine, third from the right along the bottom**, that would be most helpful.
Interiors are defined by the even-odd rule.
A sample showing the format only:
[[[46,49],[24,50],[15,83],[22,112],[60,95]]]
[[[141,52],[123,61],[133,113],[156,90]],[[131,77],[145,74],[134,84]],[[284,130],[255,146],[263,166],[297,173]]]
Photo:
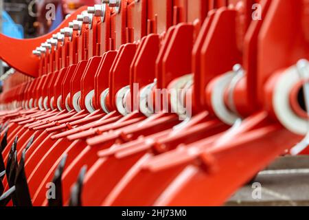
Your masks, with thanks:
[[[19,206],[29,207],[32,206],[31,196],[29,187],[27,184],[27,177],[25,175],[25,153],[26,149],[23,150],[21,154],[21,160],[19,161],[19,166],[16,170],[16,177],[15,177],[15,195],[16,195],[16,202]]]

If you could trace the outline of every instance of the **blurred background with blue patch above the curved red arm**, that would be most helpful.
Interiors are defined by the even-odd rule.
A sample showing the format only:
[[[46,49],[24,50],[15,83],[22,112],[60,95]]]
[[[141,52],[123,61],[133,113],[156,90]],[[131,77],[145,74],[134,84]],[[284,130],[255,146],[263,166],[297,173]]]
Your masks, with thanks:
[[[41,36],[54,30],[80,6],[97,3],[101,0],[0,0],[0,32],[17,39]],[[0,77],[8,69],[0,61]]]

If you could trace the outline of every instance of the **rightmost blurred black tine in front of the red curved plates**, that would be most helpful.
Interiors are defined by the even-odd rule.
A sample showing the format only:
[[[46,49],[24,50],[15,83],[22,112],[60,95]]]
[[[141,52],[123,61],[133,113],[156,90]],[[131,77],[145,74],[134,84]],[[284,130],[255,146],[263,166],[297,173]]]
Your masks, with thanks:
[[[69,206],[82,206],[82,186],[84,184],[84,177],[87,173],[87,166],[83,166],[78,175],[78,180],[71,188],[71,198]]]

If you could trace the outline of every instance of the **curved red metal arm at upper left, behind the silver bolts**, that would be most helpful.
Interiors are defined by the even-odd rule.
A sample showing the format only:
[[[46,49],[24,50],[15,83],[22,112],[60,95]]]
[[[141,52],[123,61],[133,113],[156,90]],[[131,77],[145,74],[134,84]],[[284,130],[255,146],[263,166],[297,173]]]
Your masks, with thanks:
[[[27,76],[38,76],[39,59],[32,54],[32,51],[41,45],[41,43],[50,39],[52,34],[60,32],[61,28],[67,27],[69,22],[76,19],[77,15],[84,10],[87,10],[87,6],[76,10],[76,12],[71,14],[68,19],[65,19],[53,32],[35,39],[12,39],[0,34],[0,59]]]

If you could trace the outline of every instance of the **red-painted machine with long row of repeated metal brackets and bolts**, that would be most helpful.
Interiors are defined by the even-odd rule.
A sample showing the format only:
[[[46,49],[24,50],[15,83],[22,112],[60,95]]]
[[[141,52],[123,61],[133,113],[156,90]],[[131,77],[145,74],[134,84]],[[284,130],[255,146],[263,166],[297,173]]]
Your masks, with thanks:
[[[16,136],[19,159],[27,148],[34,206],[47,206],[65,156],[65,205],[84,165],[84,206],[222,205],[304,137],[276,100],[308,58],[305,2],[116,2],[80,8],[38,39],[0,35],[0,57],[16,69],[0,94],[2,155],[6,164]],[[306,121],[297,80],[286,103]]]

